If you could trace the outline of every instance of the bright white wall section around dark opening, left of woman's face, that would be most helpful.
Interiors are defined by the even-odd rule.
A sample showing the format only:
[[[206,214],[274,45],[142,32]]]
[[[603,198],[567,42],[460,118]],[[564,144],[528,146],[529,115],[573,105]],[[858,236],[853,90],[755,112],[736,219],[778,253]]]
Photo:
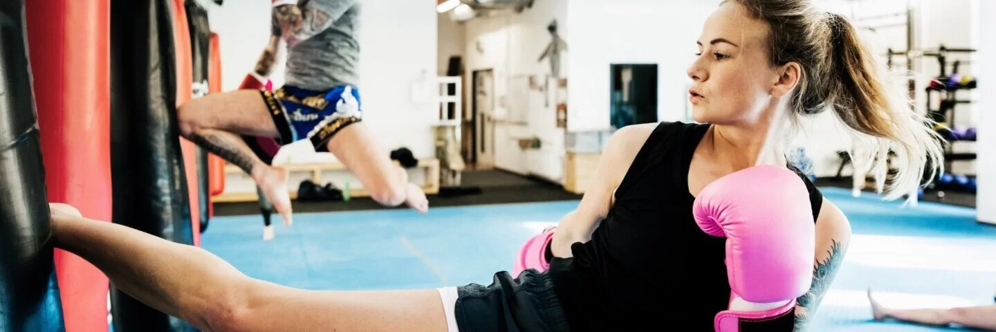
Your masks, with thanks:
[[[716,0],[571,1],[568,131],[610,129],[610,65],[657,64],[657,118],[684,121],[686,71]]]

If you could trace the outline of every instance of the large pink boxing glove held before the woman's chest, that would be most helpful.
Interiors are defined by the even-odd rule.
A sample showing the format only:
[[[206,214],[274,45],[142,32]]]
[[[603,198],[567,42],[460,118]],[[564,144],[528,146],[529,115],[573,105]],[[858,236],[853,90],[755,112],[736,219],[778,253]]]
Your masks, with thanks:
[[[799,174],[782,166],[735,171],[706,185],[692,208],[703,231],[726,237],[733,294],[716,315],[716,331],[773,324],[789,313],[810,288],[816,251],[813,208]],[[783,321],[791,330],[791,317]]]

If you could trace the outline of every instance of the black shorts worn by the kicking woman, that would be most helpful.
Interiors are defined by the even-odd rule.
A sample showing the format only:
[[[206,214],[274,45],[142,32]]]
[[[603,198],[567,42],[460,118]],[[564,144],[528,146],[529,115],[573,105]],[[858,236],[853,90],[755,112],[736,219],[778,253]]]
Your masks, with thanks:
[[[456,290],[453,312],[460,332],[570,331],[547,273],[526,270],[513,279],[508,272],[498,272],[489,286],[469,284]]]

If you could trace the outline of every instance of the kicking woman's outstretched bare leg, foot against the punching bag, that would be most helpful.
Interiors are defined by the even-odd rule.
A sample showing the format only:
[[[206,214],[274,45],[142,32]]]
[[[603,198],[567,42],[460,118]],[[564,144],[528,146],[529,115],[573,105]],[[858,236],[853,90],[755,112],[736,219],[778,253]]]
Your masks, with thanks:
[[[125,293],[203,331],[445,332],[436,290],[314,291],[250,278],[204,249],[51,204],[56,246]]]

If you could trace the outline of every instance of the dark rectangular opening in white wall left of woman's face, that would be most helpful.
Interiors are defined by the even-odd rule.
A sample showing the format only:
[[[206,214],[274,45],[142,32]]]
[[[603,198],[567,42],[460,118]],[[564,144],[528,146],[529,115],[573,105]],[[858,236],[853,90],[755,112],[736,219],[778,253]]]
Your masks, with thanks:
[[[657,122],[657,65],[611,65],[611,124],[615,129]]]

